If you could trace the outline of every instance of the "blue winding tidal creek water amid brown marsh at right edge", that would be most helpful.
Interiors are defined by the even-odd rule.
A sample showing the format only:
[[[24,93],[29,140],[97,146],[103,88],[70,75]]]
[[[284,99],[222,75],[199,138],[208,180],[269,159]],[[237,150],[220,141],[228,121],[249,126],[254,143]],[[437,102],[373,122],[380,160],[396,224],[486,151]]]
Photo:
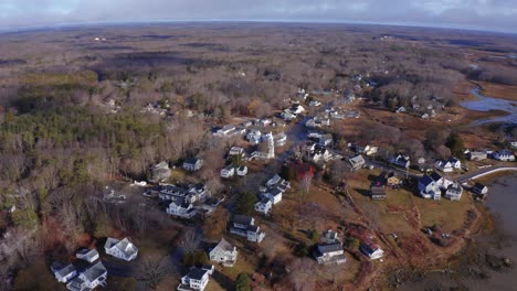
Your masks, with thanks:
[[[477,100],[462,101],[460,104],[462,107],[483,112],[490,110],[502,110],[508,112],[507,116],[476,120],[473,122],[473,125],[483,125],[489,122],[506,122],[517,125],[517,101],[484,96],[481,94],[479,88],[473,89],[472,94],[477,97]]]

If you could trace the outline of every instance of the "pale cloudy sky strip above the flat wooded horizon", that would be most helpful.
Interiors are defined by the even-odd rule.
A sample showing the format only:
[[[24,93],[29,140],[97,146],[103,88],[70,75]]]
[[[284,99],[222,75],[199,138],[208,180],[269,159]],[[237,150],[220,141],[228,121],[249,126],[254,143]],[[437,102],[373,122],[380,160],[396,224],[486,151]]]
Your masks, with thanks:
[[[0,0],[0,30],[184,20],[367,22],[517,33],[517,0]]]

